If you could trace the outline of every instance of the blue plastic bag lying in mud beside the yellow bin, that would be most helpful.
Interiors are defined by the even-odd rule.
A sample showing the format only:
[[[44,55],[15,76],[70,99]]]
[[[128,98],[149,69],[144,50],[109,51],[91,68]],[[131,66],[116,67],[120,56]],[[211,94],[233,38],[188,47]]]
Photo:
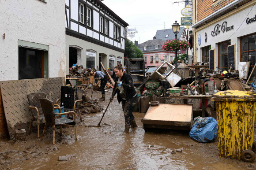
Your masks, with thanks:
[[[200,143],[211,142],[217,137],[217,121],[215,118],[196,117],[189,132],[189,137]]]

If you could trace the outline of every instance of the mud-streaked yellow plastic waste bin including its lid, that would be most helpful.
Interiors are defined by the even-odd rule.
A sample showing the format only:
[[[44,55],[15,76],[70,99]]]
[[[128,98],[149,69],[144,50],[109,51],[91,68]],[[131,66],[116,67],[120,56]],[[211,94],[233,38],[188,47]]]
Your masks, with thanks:
[[[228,90],[211,100],[216,102],[219,155],[241,159],[241,152],[252,149],[256,93]]]

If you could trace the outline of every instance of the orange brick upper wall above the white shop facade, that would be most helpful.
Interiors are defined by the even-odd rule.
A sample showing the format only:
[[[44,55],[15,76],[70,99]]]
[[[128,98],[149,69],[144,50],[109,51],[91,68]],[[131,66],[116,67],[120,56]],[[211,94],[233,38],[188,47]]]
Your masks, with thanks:
[[[212,13],[214,13],[214,11],[212,9],[208,9],[210,8],[213,4],[217,4],[217,2],[220,2],[220,0],[197,0],[197,6],[196,6],[196,10],[197,10],[197,22],[202,20],[203,18],[206,18],[207,16],[211,15]],[[228,0],[229,3],[233,2],[234,0]],[[222,1],[222,3],[220,4],[222,7],[226,6],[228,3],[226,1]],[[215,11],[218,11],[221,7],[219,5],[215,5],[213,7],[213,9]],[[205,11],[206,9],[208,9],[207,11]]]

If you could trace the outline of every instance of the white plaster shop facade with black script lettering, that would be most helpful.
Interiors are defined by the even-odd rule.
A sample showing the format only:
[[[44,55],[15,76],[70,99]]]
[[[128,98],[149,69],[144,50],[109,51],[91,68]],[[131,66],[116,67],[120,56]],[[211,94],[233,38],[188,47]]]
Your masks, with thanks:
[[[255,1],[254,1],[255,2]],[[256,33],[256,22],[246,23],[247,18],[256,17],[256,5],[252,4],[248,6],[241,6],[224,16],[222,19],[217,21],[212,21],[203,28],[196,29],[196,61],[202,62],[202,48],[211,45],[211,49],[215,49],[215,68],[218,66],[218,43],[230,40],[231,45],[236,44],[236,56],[235,56],[235,69],[238,67],[240,62],[240,38],[252,33]],[[212,36],[211,33],[214,31],[215,26],[219,24],[222,26],[223,22],[227,22],[227,27],[233,26],[233,30],[228,30],[223,33],[220,27],[220,33],[218,35]],[[205,42],[204,37],[207,33],[207,42]],[[199,45],[198,37],[201,35],[201,44]]]

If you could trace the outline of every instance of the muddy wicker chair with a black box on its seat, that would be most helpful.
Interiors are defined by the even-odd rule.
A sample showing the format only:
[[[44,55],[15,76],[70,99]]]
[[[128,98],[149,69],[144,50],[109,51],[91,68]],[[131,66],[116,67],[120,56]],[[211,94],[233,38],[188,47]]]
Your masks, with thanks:
[[[82,116],[81,116],[81,112],[80,112],[80,104],[82,103],[82,97],[83,97],[83,89],[76,89],[77,90],[77,92],[76,92],[76,100],[75,100],[75,102],[74,103],[72,103],[72,106],[73,106],[73,108],[65,108],[64,107],[64,111],[65,112],[67,112],[67,111],[75,111],[75,112],[77,112],[78,113],[78,115],[79,115],[79,118],[80,118],[80,121],[83,121],[83,119],[82,119]],[[63,93],[63,92],[62,92]],[[58,105],[58,103],[59,103],[59,101],[60,101],[60,99],[57,99],[56,100],[56,106]],[[61,103],[61,101],[60,101],[60,103]],[[61,106],[61,104],[60,105],[58,105],[58,106]]]

